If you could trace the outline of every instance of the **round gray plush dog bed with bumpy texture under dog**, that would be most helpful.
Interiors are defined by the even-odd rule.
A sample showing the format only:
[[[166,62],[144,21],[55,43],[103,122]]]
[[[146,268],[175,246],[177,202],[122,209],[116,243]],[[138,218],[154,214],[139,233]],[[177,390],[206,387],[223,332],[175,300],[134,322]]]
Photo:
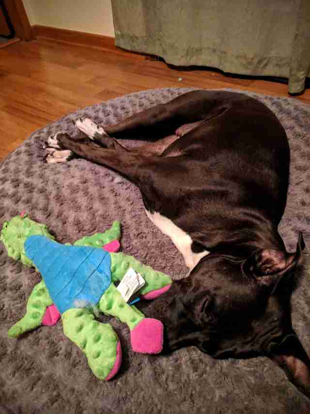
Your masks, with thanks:
[[[171,274],[187,269],[171,241],[148,220],[138,188],[108,169],[86,160],[47,165],[43,142],[50,133],[75,135],[71,120],[90,116],[102,125],[166,102],[187,89],[157,89],[94,105],[34,132],[0,164],[0,226],[23,209],[46,223],[60,242],[104,231],[114,219],[123,224],[124,252]],[[288,205],[280,225],[289,250],[297,232],[310,243],[310,107],[294,99],[249,94],[265,102],[284,125],[292,149]],[[123,141],[137,145],[135,141]],[[293,296],[294,327],[310,353],[309,257]],[[62,333],[62,323],[9,339],[39,274],[7,257],[0,244],[0,412],[4,413],[298,413],[310,400],[289,383],[267,358],[217,361],[198,349],[170,356],[135,354],[128,329],[110,320],[123,347],[120,373],[97,380],[84,354]],[[147,314],[147,307],[144,309]],[[152,315],[149,315],[152,316]]]

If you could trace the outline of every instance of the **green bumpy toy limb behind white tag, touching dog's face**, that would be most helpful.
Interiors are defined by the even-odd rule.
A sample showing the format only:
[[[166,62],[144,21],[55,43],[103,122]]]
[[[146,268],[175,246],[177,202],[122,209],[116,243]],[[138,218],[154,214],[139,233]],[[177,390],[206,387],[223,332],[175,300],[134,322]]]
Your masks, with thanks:
[[[128,256],[124,253],[110,253],[110,255],[112,281],[116,282],[122,280],[129,267],[132,267],[135,272],[140,273],[146,282],[139,290],[140,295],[146,295],[153,290],[161,289],[172,283],[172,280],[168,275],[162,272],[157,272],[151,266],[143,265],[139,260],[132,256]]]

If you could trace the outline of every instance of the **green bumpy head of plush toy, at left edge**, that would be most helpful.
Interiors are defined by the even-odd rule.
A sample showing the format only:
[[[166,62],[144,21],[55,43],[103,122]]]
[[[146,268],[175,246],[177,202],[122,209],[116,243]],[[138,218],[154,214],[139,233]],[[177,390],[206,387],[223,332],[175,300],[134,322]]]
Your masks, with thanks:
[[[54,236],[49,234],[47,226],[44,224],[31,220],[27,215],[16,215],[16,217],[3,223],[0,240],[10,257],[32,267],[33,263],[25,254],[24,243],[29,236],[34,234],[43,234],[51,240],[55,239]]]

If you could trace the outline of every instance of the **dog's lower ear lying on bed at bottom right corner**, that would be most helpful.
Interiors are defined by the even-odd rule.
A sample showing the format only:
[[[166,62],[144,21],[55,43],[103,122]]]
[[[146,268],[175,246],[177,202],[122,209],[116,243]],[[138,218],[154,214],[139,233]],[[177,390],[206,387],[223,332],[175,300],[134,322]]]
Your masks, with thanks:
[[[278,364],[289,381],[310,398],[310,359],[292,330],[280,344],[269,344],[267,356]]]

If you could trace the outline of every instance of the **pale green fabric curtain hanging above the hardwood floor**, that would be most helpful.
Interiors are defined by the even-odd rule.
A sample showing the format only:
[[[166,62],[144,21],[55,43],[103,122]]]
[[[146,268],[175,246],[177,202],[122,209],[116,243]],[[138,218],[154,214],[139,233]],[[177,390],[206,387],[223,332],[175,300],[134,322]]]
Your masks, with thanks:
[[[116,46],[176,66],[289,78],[310,76],[310,0],[111,0]]]

